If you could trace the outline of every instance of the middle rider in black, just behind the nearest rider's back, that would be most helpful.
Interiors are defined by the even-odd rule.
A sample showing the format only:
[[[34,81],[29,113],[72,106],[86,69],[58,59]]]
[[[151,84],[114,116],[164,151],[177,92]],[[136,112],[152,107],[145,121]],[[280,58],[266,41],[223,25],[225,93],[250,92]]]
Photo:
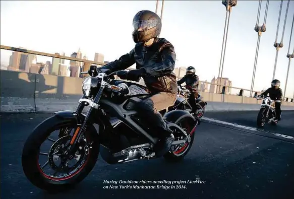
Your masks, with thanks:
[[[189,89],[191,95],[189,97],[189,103],[192,107],[192,112],[196,112],[196,100],[198,98],[198,86],[199,86],[199,77],[195,74],[196,70],[194,67],[188,67],[186,70],[186,75],[179,80],[178,85],[186,83],[186,88]]]

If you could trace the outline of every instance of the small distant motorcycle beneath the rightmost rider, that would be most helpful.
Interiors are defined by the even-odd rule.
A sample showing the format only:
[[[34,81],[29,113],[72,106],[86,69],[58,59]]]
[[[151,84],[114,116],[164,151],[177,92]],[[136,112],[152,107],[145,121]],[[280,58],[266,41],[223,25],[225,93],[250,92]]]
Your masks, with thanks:
[[[278,123],[276,111],[275,111],[275,102],[281,102],[280,100],[272,100],[267,94],[266,97],[263,95],[258,95],[257,100],[263,100],[261,108],[257,115],[257,126],[263,127],[266,122],[276,125]]]

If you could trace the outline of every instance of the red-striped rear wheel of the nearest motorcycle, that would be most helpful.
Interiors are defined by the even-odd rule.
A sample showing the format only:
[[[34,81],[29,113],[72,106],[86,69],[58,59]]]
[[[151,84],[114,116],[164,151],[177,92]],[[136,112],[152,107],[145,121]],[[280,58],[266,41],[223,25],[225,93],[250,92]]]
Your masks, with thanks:
[[[190,138],[188,138],[188,141],[183,144],[183,145],[177,145],[177,146],[172,146],[170,151],[164,155],[164,158],[168,161],[180,161],[182,160],[190,151],[193,142],[194,142],[194,137],[195,137],[195,127],[191,126],[191,123],[187,119],[180,120],[178,123],[183,130],[187,132],[188,135],[190,135]],[[170,129],[172,129],[170,127]],[[184,136],[179,133],[175,132],[174,133],[174,141],[182,140]]]

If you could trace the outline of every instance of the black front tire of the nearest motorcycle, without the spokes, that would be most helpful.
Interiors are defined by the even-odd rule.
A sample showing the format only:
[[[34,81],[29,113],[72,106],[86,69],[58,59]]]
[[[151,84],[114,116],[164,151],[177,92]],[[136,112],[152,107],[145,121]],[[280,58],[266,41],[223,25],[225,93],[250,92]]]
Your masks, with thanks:
[[[83,157],[85,158],[85,160],[81,161],[81,166],[79,168],[78,167],[75,168],[73,173],[71,174],[67,173],[69,175],[60,177],[60,178],[45,174],[45,172],[43,171],[43,168],[41,168],[39,164],[39,154],[41,154],[40,153],[41,144],[48,139],[48,137],[51,135],[51,133],[54,130],[64,129],[65,127],[76,129],[78,126],[76,122],[72,119],[60,119],[60,118],[57,118],[56,116],[52,116],[46,119],[45,121],[43,121],[33,130],[32,134],[29,136],[29,138],[27,139],[24,145],[23,153],[22,153],[23,171],[26,177],[29,179],[29,181],[33,183],[35,186],[37,186],[38,188],[41,188],[47,191],[61,191],[66,188],[70,188],[73,185],[82,181],[95,166],[95,163],[97,161],[98,154],[99,154],[99,142],[98,142],[97,132],[96,132],[96,135],[93,133],[93,130],[95,128],[94,126],[91,125],[91,126],[88,126],[84,135],[87,141],[92,142],[92,145],[90,145],[89,147],[88,155],[84,154]],[[61,139],[58,139],[58,140],[61,140]],[[55,143],[57,143],[57,141]],[[51,146],[51,149],[53,145]],[[52,161],[52,158],[49,159],[50,157],[49,154],[50,152],[48,153],[48,162],[50,160]]]

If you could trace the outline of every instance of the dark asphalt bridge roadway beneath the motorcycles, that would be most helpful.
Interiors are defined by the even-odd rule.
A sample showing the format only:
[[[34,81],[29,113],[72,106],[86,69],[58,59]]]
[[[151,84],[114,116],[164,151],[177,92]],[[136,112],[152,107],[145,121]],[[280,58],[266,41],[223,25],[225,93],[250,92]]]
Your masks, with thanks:
[[[264,131],[244,127],[255,127],[257,111],[207,112],[184,162],[171,164],[154,159],[108,165],[100,158],[75,189],[58,194],[34,187],[21,167],[26,138],[49,115],[1,113],[1,198],[294,198],[294,142],[290,137],[275,135],[294,136],[294,111],[284,111],[282,121],[277,126],[267,125]],[[205,184],[186,184],[186,189],[169,190],[103,188],[103,180],[196,177],[205,180]]]

